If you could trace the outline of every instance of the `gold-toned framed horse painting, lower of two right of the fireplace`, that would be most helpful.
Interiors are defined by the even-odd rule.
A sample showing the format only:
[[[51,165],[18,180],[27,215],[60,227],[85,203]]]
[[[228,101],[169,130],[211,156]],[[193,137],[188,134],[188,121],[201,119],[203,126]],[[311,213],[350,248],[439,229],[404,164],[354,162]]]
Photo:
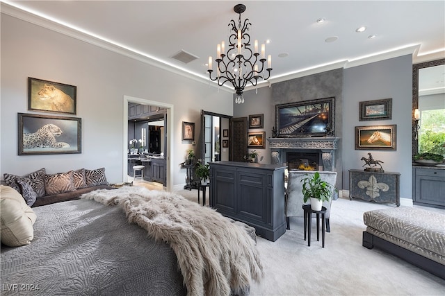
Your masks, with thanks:
[[[355,127],[355,149],[396,150],[397,125]]]

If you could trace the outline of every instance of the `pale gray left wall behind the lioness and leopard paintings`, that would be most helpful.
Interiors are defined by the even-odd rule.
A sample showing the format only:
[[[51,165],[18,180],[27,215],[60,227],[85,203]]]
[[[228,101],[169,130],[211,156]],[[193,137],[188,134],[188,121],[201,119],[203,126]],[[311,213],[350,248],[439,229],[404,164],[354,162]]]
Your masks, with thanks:
[[[28,77],[76,85],[81,154],[17,155],[17,112],[58,115],[27,110]],[[42,167],[48,173],[105,167],[108,182],[122,182],[126,165],[122,159],[127,155],[124,96],[174,106],[170,159],[172,184],[179,188],[186,175],[179,164],[186,150],[195,148],[181,141],[182,121],[196,123],[197,139],[201,109],[232,115],[230,92],[1,14],[1,176],[24,175]]]

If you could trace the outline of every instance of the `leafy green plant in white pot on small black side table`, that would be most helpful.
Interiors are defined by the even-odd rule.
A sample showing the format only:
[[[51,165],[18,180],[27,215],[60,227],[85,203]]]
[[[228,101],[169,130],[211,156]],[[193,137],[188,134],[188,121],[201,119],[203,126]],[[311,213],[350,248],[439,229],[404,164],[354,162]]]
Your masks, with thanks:
[[[334,185],[321,180],[318,172],[312,176],[307,175],[301,182],[303,182],[303,201],[306,203],[310,199],[311,209],[321,211],[323,202],[331,198]]]

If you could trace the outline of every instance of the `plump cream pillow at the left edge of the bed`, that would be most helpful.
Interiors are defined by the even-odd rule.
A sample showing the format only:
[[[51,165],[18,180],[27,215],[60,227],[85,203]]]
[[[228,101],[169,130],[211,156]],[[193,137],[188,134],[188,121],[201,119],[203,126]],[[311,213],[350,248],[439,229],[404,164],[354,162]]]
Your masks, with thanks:
[[[29,245],[37,216],[15,189],[0,185],[1,243],[10,247]]]

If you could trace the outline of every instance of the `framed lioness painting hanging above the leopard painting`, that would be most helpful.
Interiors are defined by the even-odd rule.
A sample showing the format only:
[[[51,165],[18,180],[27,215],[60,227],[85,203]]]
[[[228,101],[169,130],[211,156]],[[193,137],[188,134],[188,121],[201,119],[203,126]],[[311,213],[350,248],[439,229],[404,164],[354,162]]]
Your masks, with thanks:
[[[74,85],[28,78],[28,110],[76,114]]]

